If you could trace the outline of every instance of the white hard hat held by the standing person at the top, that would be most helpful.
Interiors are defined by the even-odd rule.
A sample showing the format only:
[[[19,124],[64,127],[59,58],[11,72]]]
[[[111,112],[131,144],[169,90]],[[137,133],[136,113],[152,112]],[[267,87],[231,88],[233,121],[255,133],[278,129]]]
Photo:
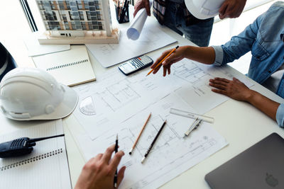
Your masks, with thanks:
[[[217,16],[225,0],[185,0],[185,6],[193,16],[207,19]]]

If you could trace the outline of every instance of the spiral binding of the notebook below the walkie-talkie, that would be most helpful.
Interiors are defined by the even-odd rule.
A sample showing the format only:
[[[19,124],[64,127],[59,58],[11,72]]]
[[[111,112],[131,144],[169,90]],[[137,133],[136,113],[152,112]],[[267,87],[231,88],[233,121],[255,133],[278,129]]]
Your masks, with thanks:
[[[45,159],[45,158],[48,158],[49,156],[55,156],[57,154],[61,154],[62,152],[63,152],[63,149],[56,149],[56,150],[50,151],[48,153],[41,154],[39,156],[31,157],[29,159],[24,159],[23,161],[18,161],[14,164],[10,164],[10,165],[7,165],[7,166],[1,166],[0,170],[5,171],[5,170],[11,169],[11,168],[18,167],[18,166],[23,166],[25,164],[30,164],[33,161],[39,161],[40,159]]]

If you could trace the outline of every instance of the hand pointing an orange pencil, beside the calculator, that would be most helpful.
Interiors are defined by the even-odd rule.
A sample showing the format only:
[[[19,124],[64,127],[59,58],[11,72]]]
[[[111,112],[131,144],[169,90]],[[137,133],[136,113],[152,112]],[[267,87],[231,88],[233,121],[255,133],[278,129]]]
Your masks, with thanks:
[[[160,57],[158,57],[158,59],[155,60],[154,64],[152,64],[151,69],[155,68],[156,65],[158,65],[159,62],[165,56],[167,56],[172,50],[166,50],[165,52],[163,52],[162,55],[160,55]],[[187,51],[187,46],[178,47],[178,49],[175,50],[170,56],[168,56],[162,62],[162,64],[160,64],[160,66],[158,66],[157,68],[154,69],[153,74],[157,73],[158,70],[160,69],[160,67],[162,67],[162,66],[163,66],[163,76],[165,76],[167,74],[167,70],[168,70],[168,74],[170,74],[171,65],[174,64],[175,62],[179,62],[180,60],[185,58],[186,51]]]

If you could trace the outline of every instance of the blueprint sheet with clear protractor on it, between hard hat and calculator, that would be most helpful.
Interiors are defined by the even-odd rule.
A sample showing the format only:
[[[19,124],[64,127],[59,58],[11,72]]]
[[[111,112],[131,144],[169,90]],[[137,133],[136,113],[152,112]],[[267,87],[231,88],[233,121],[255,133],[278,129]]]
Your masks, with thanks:
[[[97,78],[95,84],[74,88],[79,94],[75,118],[92,139],[179,87],[170,77],[146,77],[147,71],[126,77],[113,68]]]

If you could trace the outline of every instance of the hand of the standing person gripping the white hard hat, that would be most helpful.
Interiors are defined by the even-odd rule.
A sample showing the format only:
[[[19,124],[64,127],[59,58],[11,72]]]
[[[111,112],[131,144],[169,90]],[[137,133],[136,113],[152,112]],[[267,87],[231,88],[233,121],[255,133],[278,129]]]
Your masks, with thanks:
[[[238,18],[245,5],[246,0],[226,0],[219,8],[219,18]]]

